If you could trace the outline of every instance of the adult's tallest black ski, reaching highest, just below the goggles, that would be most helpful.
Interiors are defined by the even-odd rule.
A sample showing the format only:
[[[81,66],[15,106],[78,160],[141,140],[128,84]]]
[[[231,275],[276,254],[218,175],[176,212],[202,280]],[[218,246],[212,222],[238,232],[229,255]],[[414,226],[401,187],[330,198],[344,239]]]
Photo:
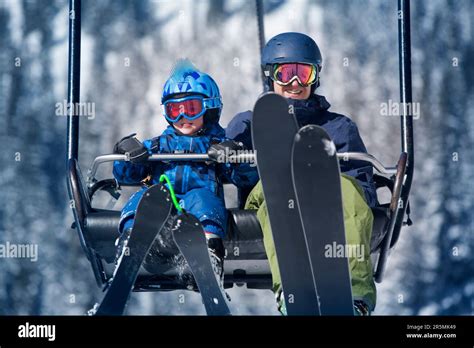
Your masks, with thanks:
[[[297,129],[296,119],[283,97],[275,93],[260,97],[253,111],[252,141],[287,313],[319,315],[313,272],[292,185],[291,149]]]

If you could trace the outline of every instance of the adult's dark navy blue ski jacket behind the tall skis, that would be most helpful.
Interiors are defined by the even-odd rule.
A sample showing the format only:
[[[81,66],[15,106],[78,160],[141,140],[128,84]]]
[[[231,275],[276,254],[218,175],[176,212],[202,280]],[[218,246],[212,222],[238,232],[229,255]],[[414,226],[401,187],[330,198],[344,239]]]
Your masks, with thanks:
[[[323,127],[334,141],[337,152],[367,152],[357,125],[350,118],[329,111],[331,105],[325,97],[312,95],[307,100],[288,99],[288,102],[293,105],[299,126],[315,124]],[[242,142],[248,149],[253,149],[251,122],[251,111],[237,114],[227,126],[226,136]],[[278,120],[275,120],[275,127],[278,127]],[[342,173],[357,179],[364,190],[368,205],[377,205],[372,166],[361,161],[341,161],[340,166]]]

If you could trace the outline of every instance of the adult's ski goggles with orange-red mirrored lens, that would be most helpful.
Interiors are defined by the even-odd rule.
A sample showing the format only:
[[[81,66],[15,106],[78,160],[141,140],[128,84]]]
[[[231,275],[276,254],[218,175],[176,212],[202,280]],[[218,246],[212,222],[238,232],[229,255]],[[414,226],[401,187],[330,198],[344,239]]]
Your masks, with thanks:
[[[288,86],[294,80],[307,87],[317,82],[319,69],[313,64],[283,63],[274,64],[270,78],[281,86]]]

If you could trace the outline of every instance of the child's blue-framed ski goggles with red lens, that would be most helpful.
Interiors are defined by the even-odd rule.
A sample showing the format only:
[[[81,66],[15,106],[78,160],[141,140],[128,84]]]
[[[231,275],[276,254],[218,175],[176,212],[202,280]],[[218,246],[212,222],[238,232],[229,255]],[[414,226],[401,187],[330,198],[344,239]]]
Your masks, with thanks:
[[[192,95],[183,98],[169,99],[163,103],[163,115],[169,122],[178,122],[181,117],[195,120],[204,115],[207,109],[222,107],[220,98],[204,98]]]

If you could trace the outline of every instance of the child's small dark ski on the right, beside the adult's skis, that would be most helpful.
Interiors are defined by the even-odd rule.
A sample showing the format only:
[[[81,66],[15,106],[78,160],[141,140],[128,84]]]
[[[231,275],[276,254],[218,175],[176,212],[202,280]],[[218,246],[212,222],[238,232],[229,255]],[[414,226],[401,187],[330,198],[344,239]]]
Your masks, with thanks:
[[[214,273],[201,223],[191,214],[175,218],[173,238],[194,276],[208,315],[230,315],[223,289]]]

